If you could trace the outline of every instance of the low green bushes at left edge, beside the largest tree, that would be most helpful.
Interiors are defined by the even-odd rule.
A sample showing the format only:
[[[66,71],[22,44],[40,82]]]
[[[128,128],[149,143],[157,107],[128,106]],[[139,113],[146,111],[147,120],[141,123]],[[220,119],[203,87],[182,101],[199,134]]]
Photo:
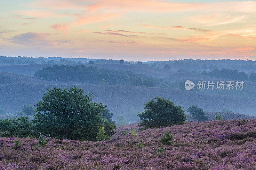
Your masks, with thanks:
[[[0,119],[0,137],[17,136],[26,138],[32,133],[33,124],[28,117]]]

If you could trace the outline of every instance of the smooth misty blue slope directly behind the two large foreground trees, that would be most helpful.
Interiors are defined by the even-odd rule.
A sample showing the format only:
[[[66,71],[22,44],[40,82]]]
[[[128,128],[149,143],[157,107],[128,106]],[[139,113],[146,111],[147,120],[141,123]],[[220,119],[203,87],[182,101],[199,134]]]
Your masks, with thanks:
[[[156,96],[170,99],[181,105],[184,110],[188,106],[197,105],[211,112],[231,109],[237,113],[256,116],[256,100],[246,97],[211,95],[166,88],[42,81],[34,77],[4,72],[1,72],[1,77],[4,77],[5,81],[0,85],[0,104],[7,113],[19,111],[25,104],[36,104],[36,101],[42,99],[47,88],[77,86],[83,89],[85,94],[92,92],[93,101],[107,105],[110,112],[114,112],[114,119],[118,114],[126,116],[131,107],[137,108],[139,112],[144,110],[143,104]]]

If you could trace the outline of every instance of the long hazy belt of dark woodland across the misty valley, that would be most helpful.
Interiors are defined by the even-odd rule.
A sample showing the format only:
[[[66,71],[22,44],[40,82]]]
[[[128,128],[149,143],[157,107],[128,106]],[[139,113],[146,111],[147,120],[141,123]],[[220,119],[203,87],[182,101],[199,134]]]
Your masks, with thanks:
[[[170,88],[169,82],[161,78],[149,78],[143,74],[134,74],[131,71],[110,70],[84,65],[53,65],[44,67],[35,73],[35,77],[50,81],[84,82],[92,84],[113,84],[142,87]],[[104,81],[102,81],[104,80]]]

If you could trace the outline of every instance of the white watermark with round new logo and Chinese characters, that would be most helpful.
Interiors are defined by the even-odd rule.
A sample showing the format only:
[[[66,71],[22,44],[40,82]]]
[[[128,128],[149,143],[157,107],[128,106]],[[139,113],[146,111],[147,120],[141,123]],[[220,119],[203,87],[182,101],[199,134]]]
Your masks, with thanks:
[[[208,83],[207,83],[208,82]],[[185,89],[191,90],[194,89],[195,84],[187,80],[185,82]],[[242,90],[244,87],[244,81],[197,81],[197,90],[208,90],[208,89],[219,89],[219,90]]]

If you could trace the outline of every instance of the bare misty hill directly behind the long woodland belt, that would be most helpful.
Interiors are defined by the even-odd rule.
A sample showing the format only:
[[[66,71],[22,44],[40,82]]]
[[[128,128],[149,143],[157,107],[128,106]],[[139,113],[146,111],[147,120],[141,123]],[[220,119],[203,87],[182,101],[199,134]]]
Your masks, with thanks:
[[[61,66],[62,64],[0,65],[0,71],[34,76],[37,70],[42,69],[43,67],[48,67],[53,65]],[[76,66],[75,64],[68,64],[68,65]],[[88,65],[85,65],[85,66],[88,66]],[[165,70],[162,68],[134,66],[134,65],[91,64],[90,66],[95,66],[99,68],[108,68],[108,69],[120,70],[120,71],[132,71],[134,74],[144,74],[148,77],[164,77],[173,73],[173,71]]]

